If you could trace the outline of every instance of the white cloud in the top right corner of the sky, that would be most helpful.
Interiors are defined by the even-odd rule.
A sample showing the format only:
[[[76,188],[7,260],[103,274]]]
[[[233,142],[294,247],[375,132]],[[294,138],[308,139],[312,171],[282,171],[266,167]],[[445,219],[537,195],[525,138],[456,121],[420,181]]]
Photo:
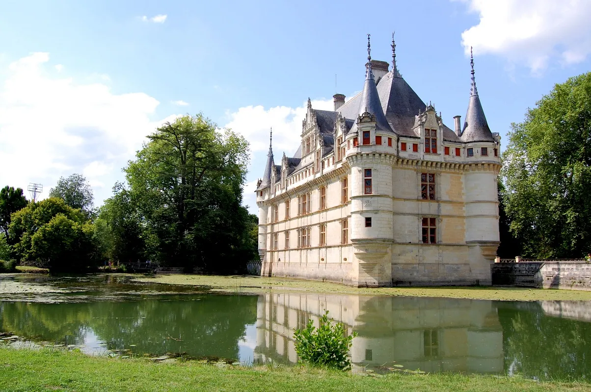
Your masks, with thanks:
[[[502,55],[540,73],[553,58],[580,63],[591,53],[589,0],[459,0],[480,22],[462,33],[466,54]]]

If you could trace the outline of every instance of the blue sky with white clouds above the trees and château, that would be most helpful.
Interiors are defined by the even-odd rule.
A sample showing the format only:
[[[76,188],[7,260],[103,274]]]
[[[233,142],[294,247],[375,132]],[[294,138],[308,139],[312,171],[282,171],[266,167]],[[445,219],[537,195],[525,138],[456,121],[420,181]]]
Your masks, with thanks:
[[[0,5],[0,184],[26,188],[84,174],[96,204],[167,119],[203,112],[251,142],[245,204],[262,175],[297,148],[307,98],[361,90],[372,57],[397,65],[453,128],[466,113],[469,46],[493,132],[555,83],[590,68],[583,0],[363,2],[8,1]],[[335,90],[335,74],[337,84]],[[505,144],[507,138],[501,143]]]

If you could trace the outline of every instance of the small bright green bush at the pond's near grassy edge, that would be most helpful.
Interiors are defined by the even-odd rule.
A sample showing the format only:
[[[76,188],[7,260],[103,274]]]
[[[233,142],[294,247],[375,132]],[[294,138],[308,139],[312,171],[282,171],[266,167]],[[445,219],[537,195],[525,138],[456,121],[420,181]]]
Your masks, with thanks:
[[[296,329],[296,352],[300,360],[313,366],[324,366],[339,370],[348,370],[351,361],[347,358],[352,340],[357,336],[345,336],[345,325],[340,322],[332,324],[325,311],[320,318],[318,329],[310,320],[304,329]]]

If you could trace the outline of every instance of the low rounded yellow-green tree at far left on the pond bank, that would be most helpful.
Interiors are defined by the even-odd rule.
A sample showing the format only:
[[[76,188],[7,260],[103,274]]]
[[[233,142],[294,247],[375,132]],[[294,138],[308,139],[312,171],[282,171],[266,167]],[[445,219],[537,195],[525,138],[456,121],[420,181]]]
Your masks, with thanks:
[[[34,202],[12,214],[9,226],[21,260],[44,260],[55,271],[83,270],[100,259],[94,226],[61,198]]]

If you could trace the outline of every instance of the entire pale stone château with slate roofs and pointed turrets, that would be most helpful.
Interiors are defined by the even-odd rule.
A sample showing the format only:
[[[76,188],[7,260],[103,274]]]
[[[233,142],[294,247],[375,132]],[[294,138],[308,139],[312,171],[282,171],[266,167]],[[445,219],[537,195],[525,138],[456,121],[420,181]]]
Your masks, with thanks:
[[[356,286],[490,285],[499,245],[498,133],[476,90],[444,125],[392,70],[366,64],[363,90],[333,111],[308,100],[301,145],[256,188],[261,274]]]

